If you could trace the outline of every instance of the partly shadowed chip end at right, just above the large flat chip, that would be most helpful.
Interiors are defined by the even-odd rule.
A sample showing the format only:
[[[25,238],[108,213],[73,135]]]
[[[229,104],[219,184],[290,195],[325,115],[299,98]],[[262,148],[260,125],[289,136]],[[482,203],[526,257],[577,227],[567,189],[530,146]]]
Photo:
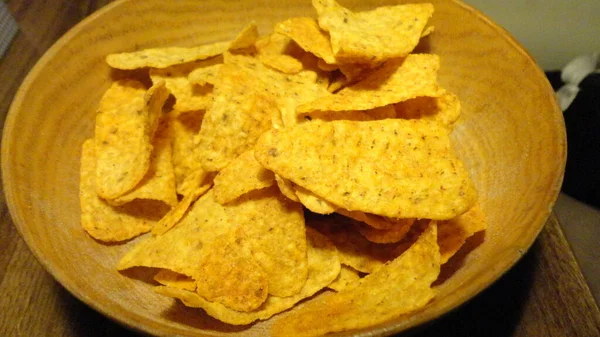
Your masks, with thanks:
[[[452,127],[460,117],[458,97],[445,92],[439,97],[416,97],[395,105],[398,118],[429,119]]]

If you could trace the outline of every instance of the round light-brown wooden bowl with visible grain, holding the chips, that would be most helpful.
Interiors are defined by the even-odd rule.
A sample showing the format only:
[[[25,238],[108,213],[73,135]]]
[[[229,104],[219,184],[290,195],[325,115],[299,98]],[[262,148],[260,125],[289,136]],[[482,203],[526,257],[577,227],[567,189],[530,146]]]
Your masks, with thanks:
[[[342,1],[357,10],[383,2],[396,1]],[[441,56],[440,81],[462,101],[463,118],[452,137],[480,191],[489,229],[455,263],[459,268],[423,311],[361,333],[406,330],[489,286],[531,246],[562,182],[565,129],[544,73],[480,12],[459,1],[433,2],[435,32],[425,48]],[[106,54],[231,39],[250,20],[264,34],[274,22],[302,15],[315,15],[309,0],[117,1],[85,19],[42,57],[10,108],[2,173],[14,223],[65,288],[106,316],[151,334],[266,334],[270,321],[249,327],[221,324],[115,270],[135,240],[107,246],[81,229],[80,146],[93,134],[96,105],[111,81]]]

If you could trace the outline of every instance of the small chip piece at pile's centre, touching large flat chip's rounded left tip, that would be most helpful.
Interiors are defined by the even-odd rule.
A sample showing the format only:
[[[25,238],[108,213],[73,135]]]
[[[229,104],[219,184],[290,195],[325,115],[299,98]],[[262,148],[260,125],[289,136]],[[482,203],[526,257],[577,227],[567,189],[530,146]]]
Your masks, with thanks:
[[[234,159],[215,177],[215,200],[221,204],[237,199],[250,191],[275,184],[273,172],[265,170],[250,149]]]

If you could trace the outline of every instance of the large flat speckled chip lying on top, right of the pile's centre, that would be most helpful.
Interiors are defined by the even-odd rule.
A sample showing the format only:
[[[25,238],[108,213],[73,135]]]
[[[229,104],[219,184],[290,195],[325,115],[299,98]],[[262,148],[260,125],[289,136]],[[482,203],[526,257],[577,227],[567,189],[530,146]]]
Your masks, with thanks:
[[[254,151],[265,168],[351,211],[446,220],[477,198],[433,121],[303,123],[266,132]]]

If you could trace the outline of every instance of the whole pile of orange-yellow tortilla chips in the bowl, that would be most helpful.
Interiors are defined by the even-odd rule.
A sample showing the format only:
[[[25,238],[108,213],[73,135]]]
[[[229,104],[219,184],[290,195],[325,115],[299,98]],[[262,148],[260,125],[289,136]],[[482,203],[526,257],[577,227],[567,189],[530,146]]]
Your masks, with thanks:
[[[117,268],[272,334],[367,327],[423,308],[440,266],[486,228],[449,134],[457,97],[413,53],[431,4],[352,12],[313,0],[230,42],[108,55],[131,71],[83,144],[82,226],[145,234]],[[143,74],[143,75],[140,75]]]

